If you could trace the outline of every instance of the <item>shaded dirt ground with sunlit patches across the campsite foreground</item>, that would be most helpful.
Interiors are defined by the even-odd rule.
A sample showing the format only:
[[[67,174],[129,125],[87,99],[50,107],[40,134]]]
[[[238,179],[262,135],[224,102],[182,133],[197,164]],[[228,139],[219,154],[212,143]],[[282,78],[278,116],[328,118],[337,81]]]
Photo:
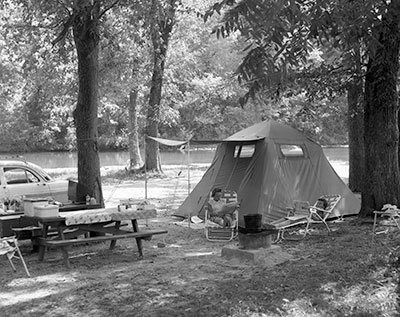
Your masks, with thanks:
[[[305,239],[277,244],[289,260],[228,260],[221,256],[226,243],[174,224],[165,209],[170,199],[160,196],[159,217],[139,222],[142,230],[168,230],[143,242],[142,259],[135,241],[126,239],[113,250],[105,242],[72,247],[67,269],[59,250],[38,262],[30,241],[21,241],[32,277],[20,261],[14,273],[0,258],[0,315],[399,315],[397,231],[374,235],[371,221],[346,218],[331,223],[330,234],[315,226]]]

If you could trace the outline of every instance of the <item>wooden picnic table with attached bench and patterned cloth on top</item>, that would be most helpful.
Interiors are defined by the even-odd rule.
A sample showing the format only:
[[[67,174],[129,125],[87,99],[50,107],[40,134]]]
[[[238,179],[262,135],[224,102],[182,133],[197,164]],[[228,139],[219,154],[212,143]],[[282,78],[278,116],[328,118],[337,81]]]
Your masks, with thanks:
[[[136,239],[138,252],[142,257],[142,239],[150,240],[155,234],[167,233],[166,230],[139,230],[138,219],[154,217],[156,217],[155,209],[128,208],[118,211],[117,207],[60,212],[58,217],[32,217],[43,226],[42,236],[38,239],[39,261],[44,260],[48,247],[57,247],[61,249],[64,263],[69,268],[69,246],[108,240],[111,241],[110,249],[113,249],[118,239],[127,238]],[[122,221],[129,221],[133,231],[121,229]],[[56,235],[49,235],[51,228],[55,229]],[[97,236],[93,236],[93,233]]]

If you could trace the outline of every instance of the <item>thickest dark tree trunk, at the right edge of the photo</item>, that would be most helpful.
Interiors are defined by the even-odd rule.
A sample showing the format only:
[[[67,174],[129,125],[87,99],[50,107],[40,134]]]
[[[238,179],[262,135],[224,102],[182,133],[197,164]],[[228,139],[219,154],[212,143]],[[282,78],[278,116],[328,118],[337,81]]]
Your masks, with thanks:
[[[365,77],[365,177],[361,216],[400,202],[397,75],[400,1],[392,1],[376,29]]]

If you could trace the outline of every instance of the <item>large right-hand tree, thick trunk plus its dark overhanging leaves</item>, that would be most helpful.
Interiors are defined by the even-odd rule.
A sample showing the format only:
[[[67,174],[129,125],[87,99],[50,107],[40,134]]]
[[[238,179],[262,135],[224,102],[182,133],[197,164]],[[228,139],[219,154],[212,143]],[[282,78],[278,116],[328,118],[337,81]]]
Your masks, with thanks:
[[[248,96],[263,89],[282,89],[287,75],[315,49],[313,40],[339,48],[343,61],[353,65],[360,62],[354,51],[362,40],[368,47],[364,52],[369,62],[365,77],[366,163],[361,214],[381,209],[384,203],[397,204],[399,1],[226,0],[216,3],[205,18],[225,5],[229,9],[216,32],[225,36],[239,30],[248,39],[247,55],[238,70],[239,78],[248,84]],[[353,72],[352,76],[359,77],[360,72]],[[358,93],[360,81],[354,79],[350,83],[351,93]],[[357,100],[354,104],[359,107],[359,96],[349,98]]]

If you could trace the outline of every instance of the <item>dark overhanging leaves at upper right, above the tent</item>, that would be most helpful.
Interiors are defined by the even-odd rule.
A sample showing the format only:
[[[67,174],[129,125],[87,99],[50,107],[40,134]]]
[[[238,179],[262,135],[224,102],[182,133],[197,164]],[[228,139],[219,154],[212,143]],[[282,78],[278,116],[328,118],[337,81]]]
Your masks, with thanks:
[[[359,76],[354,73],[354,51],[360,45],[365,48],[364,52],[376,49],[371,26],[386,10],[384,2],[374,0],[362,1],[362,4],[329,0],[225,0],[214,4],[204,19],[219,13],[222,7],[226,10],[214,29],[217,37],[239,32],[248,43],[246,55],[237,69],[239,81],[248,87],[243,102],[249,97],[255,98],[262,90],[283,89],[293,74],[304,71],[310,53],[322,46],[325,50],[335,50],[337,55],[329,61],[333,64],[326,70],[336,68],[340,62],[345,73],[351,70],[351,76]]]

